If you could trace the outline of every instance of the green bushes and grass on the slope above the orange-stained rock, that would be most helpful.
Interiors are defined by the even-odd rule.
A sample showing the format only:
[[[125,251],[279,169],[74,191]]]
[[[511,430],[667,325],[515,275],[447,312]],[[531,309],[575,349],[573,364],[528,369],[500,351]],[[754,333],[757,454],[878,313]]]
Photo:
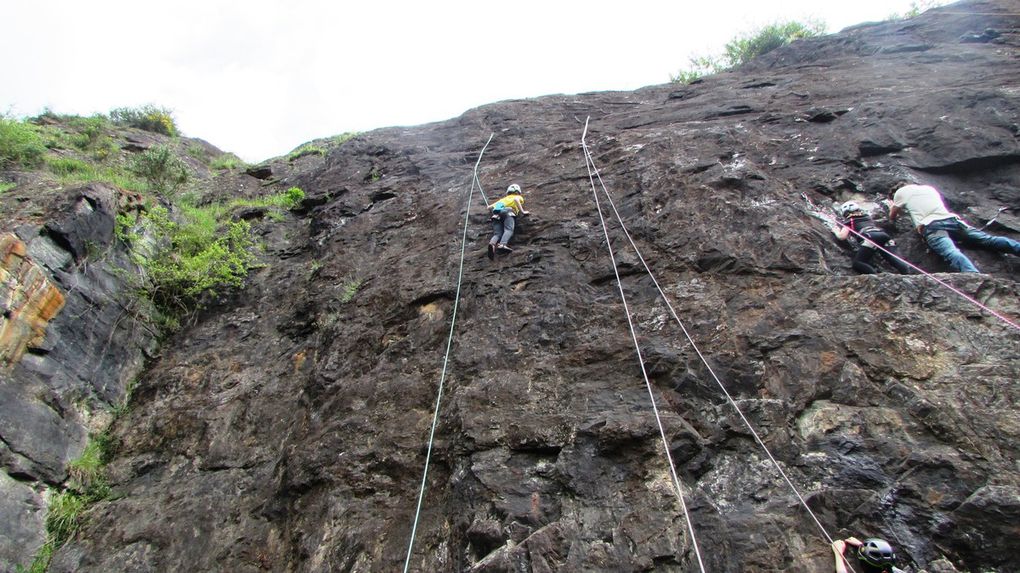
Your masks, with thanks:
[[[125,128],[143,129],[156,139],[134,137],[144,147],[129,147]],[[125,270],[124,275],[155,303],[171,328],[204,300],[242,285],[257,264],[259,243],[248,221],[234,220],[237,210],[261,208],[274,218],[304,197],[291,188],[257,199],[205,200],[212,184],[208,175],[197,176],[198,171],[221,173],[247,165],[234,154],[210,157],[202,145],[177,136],[170,111],[151,105],[114,109],[108,116],[51,111],[27,119],[0,116],[0,167],[32,173],[42,195],[103,183],[131,196],[131,209],[117,217],[117,237],[143,272]],[[5,193],[18,187],[2,185]]]

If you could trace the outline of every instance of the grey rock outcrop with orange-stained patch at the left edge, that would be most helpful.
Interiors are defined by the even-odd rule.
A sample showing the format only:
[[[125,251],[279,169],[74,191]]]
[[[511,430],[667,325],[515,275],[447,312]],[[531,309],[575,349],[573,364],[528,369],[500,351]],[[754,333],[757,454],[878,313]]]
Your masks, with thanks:
[[[45,195],[47,209],[35,221],[10,208],[24,197],[5,197],[0,235],[5,571],[30,562],[42,544],[46,486],[67,478],[90,429],[108,421],[104,410],[123,399],[155,348],[147,310],[123,279],[133,270],[126,253],[113,238],[119,192],[91,185]]]

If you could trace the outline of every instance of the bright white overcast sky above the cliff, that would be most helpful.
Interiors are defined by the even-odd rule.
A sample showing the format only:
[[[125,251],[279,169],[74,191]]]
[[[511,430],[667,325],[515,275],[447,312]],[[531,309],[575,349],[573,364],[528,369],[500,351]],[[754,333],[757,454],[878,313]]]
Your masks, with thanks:
[[[776,20],[911,0],[0,0],[0,112],[155,104],[246,161],[512,98],[664,84]]]

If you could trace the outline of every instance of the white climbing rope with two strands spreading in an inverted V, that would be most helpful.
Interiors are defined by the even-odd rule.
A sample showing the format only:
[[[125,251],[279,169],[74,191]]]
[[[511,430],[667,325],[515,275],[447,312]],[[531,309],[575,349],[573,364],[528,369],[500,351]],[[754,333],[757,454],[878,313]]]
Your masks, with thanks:
[[[786,472],[783,471],[782,467],[779,465],[779,462],[772,455],[772,452],[769,451],[769,449],[768,449],[767,446],[765,446],[765,442],[762,440],[761,436],[758,435],[758,432],[755,430],[754,426],[748,420],[747,416],[745,416],[744,412],[741,411],[740,406],[736,405],[736,402],[733,400],[732,396],[730,396],[729,392],[726,389],[726,386],[722,383],[722,380],[720,380],[719,376],[716,375],[715,370],[712,368],[712,365],[709,364],[708,360],[705,358],[705,355],[702,354],[701,350],[698,348],[698,345],[695,343],[694,337],[687,331],[687,328],[686,328],[686,326],[684,326],[683,321],[681,321],[680,318],[679,318],[679,316],[676,314],[676,310],[673,308],[673,305],[669,302],[669,298],[666,297],[665,292],[663,291],[662,287],[659,284],[659,281],[656,279],[655,274],[652,272],[652,269],[648,266],[648,262],[646,262],[645,257],[641,254],[641,250],[638,249],[638,245],[634,243],[633,239],[630,237],[630,232],[627,231],[626,225],[623,222],[623,218],[620,216],[619,211],[617,211],[616,204],[613,202],[612,196],[609,194],[609,191],[606,189],[606,184],[602,180],[602,175],[599,173],[598,168],[595,166],[595,160],[592,157],[591,152],[589,151],[588,145],[584,143],[584,137],[586,136],[586,134],[588,134],[588,120],[584,121],[584,136],[581,136],[581,147],[583,148],[585,159],[586,159],[586,161],[589,163],[589,178],[591,179],[593,177],[593,171],[594,171],[594,176],[598,177],[599,185],[602,187],[602,192],[606,196],[606,198],[609,200],[609,204],[612,207],[613,212],[616,215],[616,220],[619,222],[620,228],[623,230],[623,235],[627,238],[627,241],[630,243],[630,247],[634,250],[634,253],[638,255],[638,259],[641,260],[642,265],[645,267],[645,271],[648,273],[649,277],[652,279],[652,282],[655,283],[655,288],[659,291],[659,295],[662,297],[663,302],[665,302],[666,307],[669,308],[669,312],[670,312],[670,314],[672,314],[673,319],[676,320],[676,323],[680,326],[680,329],[683,331],[684,336],[686,336],[687,342],[691,343],[691,347],[695,350],[695,353],[698,354],[698,357],[701,359],[702,363],[705,364],[705,367],[708,369],[708,372],[712,375],[712,378],[715,380],[716,384],[719,385],[719,388],[722,390],[722,394],[726,397],[726,400],[729,402],[730,406],[732,406],[733,410],[741,417],[741,420],[744,421],[744,424],[747,426],[748,430],[751,432],[751,435],[754,436],[755,441],[757,441],[758,445],[765,452],[765,455],[772,462],[772,465],[775,466],[775,469],[779,472],[779,475],[782,476],[782,479],[789,486],[790,490],[794,492],[794,496],[797,497],[798,501],[800,501],[801,505],[808,512],[808,515],[810,515],[811,519],[814,520],[815,525],[817,525],[818,529],[822,532],[822,535],[824,535],[824,537],[828,540],[829,545],[831,545],[832,542],[833,542],[832,537],[829,535],[828,531],[826,531],[826,529],[822,525],[821,521],[818,519],[818,516],[815,515],[815,512],[813,512],[811,510],[811,508],[808,506],[807,501],[805,501],[804,497],[797,489],[797,486],[794,485],[793,480],[790,480],[790,478],[786,475]],[[592,192],[593,192],[593,194],[595,194],[595,181],[594,181],[594,179],[592,180]],[[596,205],[598,206],[598,198],[596,198]],[[599,217],[602,218],[601,207],[599,209]],[[606,229],[606,225],[605,225],[605,220],[603,219],[603,230],[605,230],[605,229]],[[607,243],[609,241],[608,231],[606,233],[606,241],[607,241]],[[610,248],[610,255],[612,256],[612,248]],[[616,268],[615,258],[613,258],[613,268],[614,269]],[[619,284],[619,273],[618,272],[617,272],[617,283]],[[622,289],[622,287],[620,287],[620,296],[621,297],[623,296],[623,289]],[[624,308],[626,308],[626,302],[625,301],[624,301]],[[628,323],[630,323],[630,314],[629,314],[629,311],[627,311],[627,321],[628,321]],[[630,325],[631,325],[631,334],[633,334],[633,325],[632,325],[632,323],[630,323]],[[636,344],[638,344],[638,341],[636,341],[636,337],[635,337],[634,338],[634,345],[636,346]],[[641,352],[639,350],[639,357],[640,356],[641,356]],[[642,365],[642,370],[644,372],[644,364]],[[647,376],[645,378],[645,381],[648,384],[649,393],[651,394],[651,392],[652,392],[651,387],[652,386],[648,382],[648,377]],[[653,399],[652,404],[653,404],[653,407],[654,407],[655,406],[654,399]],[[658,410],[656,410],[656,416],[658,417]],[[662,426],[661,426],[661,422],[660,422],[660,429],[661,429],[661,427]],[[665,434],[663,434],[663,437],[665,437]],[[667,449],[667,455],[668,455],[668,449]],[[670,459],[670,464],[672,464],[672,460],[671,459]],[[681,501],[682,501],[682,498],[681,498]],[[684,512],[685,512],[685,510],[684,510]],[[684,515],[686,515],[686,514],[684,513]],[[687,519],[688,526],[690,526],[690,523],[691,523],[691,521],[690,521],[690,518],[688,518]],[[692,535],[693,535],[693,529],[692,529]],[[697,550],[697,544],[695,544],[695,550],[696,550],[696,552],[698,551]],[[845,559],[845,561],[846,561],[846,559]],[[699,563],[700,562],[701,562],[701,556],[699,554]],[[851,570],[853,571],[853,567],[850,565],[849,562],[847,562],[847,566],[851,567]],[[702,568],[702,570],[704,571],[704,567]]]

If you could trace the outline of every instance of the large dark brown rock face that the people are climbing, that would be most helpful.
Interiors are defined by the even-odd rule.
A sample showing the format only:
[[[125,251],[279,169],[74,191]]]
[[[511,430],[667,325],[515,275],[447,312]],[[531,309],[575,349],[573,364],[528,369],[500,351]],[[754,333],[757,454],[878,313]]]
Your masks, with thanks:
[[[964,2],[685,87],[502,102],[275,162],[303,208],[152,361],[114,428],[114,497],[52,570],[400,570],[441,380],[414,571],[694,571],[696,539],[708,571],[826,570],[734,404],[833,537],[883,536],[915,570],[1013,570],[1020,332],[926,276],[854,274],[805,197],[874,201],[911,174],[974,223],[1007,207],[989,229],[1020,237],[1015,12]],[[613,219],[606,244],[588,117],[732,404]],[[475,195],[458,297],[490,134],[484,190],[518,183],[533,214],[491,262]],[[897,239],[946,270],[904,221]],[[1017,258],[968,254],[984,274],[939,277],[1020,316]]]

